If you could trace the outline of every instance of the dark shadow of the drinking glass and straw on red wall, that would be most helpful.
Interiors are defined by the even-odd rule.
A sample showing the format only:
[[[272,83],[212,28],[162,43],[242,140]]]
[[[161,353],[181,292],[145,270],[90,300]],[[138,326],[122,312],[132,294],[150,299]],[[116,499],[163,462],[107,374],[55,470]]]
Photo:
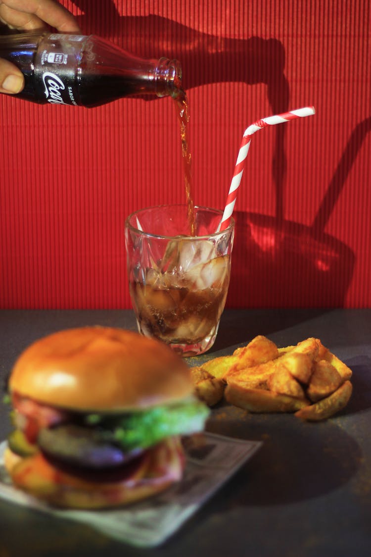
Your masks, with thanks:
[[[311,226],[236,212],[229,306],[344,306],[355,255],[324,229],[370,130],[371,118],[355,126]]]

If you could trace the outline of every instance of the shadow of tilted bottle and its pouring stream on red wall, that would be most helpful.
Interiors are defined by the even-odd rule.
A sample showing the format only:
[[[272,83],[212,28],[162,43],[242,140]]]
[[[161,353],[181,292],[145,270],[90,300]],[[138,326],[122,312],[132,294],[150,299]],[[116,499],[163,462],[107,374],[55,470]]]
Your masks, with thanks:
[[[289,110],[289,85],[284,74],[285,50],[274,38],[225,38],[202,33],[155,14],[121,16],[112,0],[103,5],[97,0],[74,0],[74,3],[84,12],[77,18],[83,32],[107,37],[109,27],[110,38],[137,56],[166,56],[179,60],[186,91],[221,82],[262,83],[266,85],[272,114]],[[149,98],[155,100],[157,97],[146,97],[146,100]],[[276,126],[271,173],[278,219],[283,218],[285,133],[285,126]]]

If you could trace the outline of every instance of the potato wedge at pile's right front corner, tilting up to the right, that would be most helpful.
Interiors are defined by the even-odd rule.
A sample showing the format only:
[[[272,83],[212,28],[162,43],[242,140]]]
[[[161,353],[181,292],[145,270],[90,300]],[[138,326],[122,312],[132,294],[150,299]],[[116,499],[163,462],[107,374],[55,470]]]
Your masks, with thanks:
[[[345,381],[334,393],[328,397],[319,400],[315,404],[310,404],[305,408],[301,408],[295,413],[295,416],[311,422],[319,422],[320,420],[330,418],[348,404],[350,395],[352,394],[352,383]]]

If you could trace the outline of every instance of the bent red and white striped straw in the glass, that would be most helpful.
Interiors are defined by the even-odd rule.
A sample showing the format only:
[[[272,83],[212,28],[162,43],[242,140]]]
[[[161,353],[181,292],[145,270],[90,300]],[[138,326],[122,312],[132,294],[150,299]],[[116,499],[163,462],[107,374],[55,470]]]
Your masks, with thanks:
[[[238,157],[237,157],[237,161],[233,173],[233,178],[229,188],[227,201],[225,204],[225,209],[224,209],[223,216],[221,218],[218,232],[225,230],[226,228],[229,227],[231,216],[236,202],[237,190],[239,188],[241,178],[244,172],[246,157],[248,156],[248,151],[251,143],[251,136],[255,133],[255,131],[259,131],[263,128],[266,128],[267,126],[274,126],[275,124],[283,124],[284,122],[288,122],[289,120],[295,120],[296,118],[304,118],[305,116],[311,116],[314,113],[315,113],[314,106],[305,106],[304,108],[300,108],[298,110],[291,110],[290,112],[285,112],[283,114],[268,116],[268,118],[263,118],[262,120],[258,120],[254,124],[251,124],[251,126],[246,128],[241,141],[241,146],[238,153]]]

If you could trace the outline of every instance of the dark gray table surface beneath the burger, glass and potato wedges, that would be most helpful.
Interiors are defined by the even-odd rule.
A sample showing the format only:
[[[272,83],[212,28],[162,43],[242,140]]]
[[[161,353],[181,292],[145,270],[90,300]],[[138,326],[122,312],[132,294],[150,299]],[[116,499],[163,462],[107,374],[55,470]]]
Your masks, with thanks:
[[[20,351],[55,330],[89,324],[135,330],[131,311],[0,311],[0,381]],[[353,395],[323,423],[291,414],[248,414],[220,405],[209,431],[263,446],[164,545],[140,550],[87,526],[0,500],[0,557],[371,554],[371,310],[226,310],[211,356],[257,334],[279,346],[315,336],[353,370]],[[194,360],[190,361],[194,365]],[[0,404],[0,439],[10,430]]]

